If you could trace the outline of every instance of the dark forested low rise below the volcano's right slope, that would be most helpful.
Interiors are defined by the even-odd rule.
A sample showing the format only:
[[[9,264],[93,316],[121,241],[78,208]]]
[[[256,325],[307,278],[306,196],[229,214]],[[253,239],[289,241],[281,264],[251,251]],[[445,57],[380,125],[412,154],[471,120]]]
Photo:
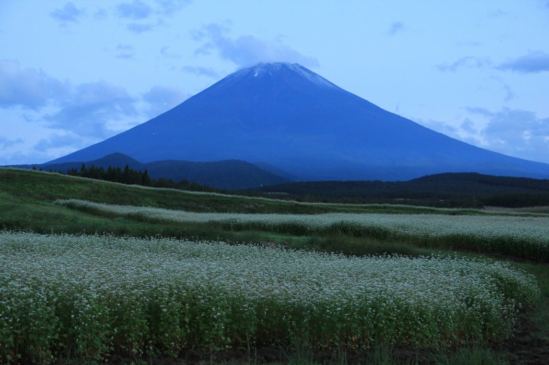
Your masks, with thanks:
[[[410,181],[305,181],[256,188],[281,199],[434,207],[549,205],[549,180],[444,173]]]

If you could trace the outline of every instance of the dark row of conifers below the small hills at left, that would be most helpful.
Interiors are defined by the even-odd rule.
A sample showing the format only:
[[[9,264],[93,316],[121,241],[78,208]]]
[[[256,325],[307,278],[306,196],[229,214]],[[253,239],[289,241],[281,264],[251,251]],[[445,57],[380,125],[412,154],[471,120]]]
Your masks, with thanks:
[[[61,171],[57,172],[62,173]],[[134,170],[133,168],[130,168],[130,166],[128,166],[127,164],[126,167],[124,167],[123,169],[113,166],[108,166],[108,168],[104,168],[103,166],[95,167],[94,165],[86,167],[86,164],[82,164],[80,170],[76,168],[70,168],[67,171],[66,175],[113,181],[120,184],[150,186],[152,188],[172,188],[203,192],[224,192],[223,190],[211,188],[207,185],[202,185],[187,180],[174,181],[172,179],[165,179],[163,177],[159,179],[153,179],[149,176],[147,169],[145,169],[145,171]]]

